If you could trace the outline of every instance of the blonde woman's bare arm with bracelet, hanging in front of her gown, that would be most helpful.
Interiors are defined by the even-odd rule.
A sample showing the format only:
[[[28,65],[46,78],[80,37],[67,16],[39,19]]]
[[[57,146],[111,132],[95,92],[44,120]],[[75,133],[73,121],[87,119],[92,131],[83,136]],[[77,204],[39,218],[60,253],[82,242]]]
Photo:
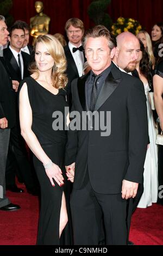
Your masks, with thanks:
[[[34,155],[43,163],[45,166],[46,174],[54,185],[53,179],[61,186],[63,184],[63,176],[61,170],[57,164],[52,163],[49,157],[43,151],[35,133],[32,131],[32,108],[30,107],[27,84],[24,83],[20,91],[20,126],[21,135],[32,150]]]

